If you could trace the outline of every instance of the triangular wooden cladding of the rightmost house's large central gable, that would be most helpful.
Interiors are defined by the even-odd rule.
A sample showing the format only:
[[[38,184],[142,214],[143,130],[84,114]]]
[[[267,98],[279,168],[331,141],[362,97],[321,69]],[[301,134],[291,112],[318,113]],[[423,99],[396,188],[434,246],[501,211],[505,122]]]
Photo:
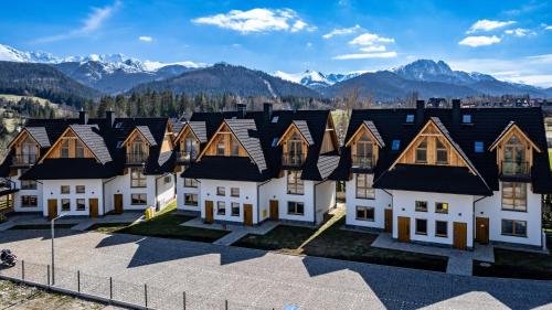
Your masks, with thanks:
[[[421,161],[416,158],[416,150],[422,142],[425,142],[426,159]],[[437,146],[438,142],[444,147],[447,153],[446,162],[437,161]],[[478,174],[475,169],[469,164],[463,156],[456,150],[445,135],[437,128],[433,120],[429,120],[424,128],[414,137],[408,146],[399,156],[395,162],[391,165],[390,170],[397,163],[407,164],[431,164],[431,165],[452,165],[452,167],[466,167],[471,173]]]

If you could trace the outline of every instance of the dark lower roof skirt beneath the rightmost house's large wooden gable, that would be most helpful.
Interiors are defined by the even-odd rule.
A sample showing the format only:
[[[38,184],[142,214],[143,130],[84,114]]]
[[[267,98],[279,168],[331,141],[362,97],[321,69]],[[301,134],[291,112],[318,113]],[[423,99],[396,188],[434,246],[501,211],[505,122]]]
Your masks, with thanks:
[[[482,179],[464,167],[396,164],[374,180],[374,188],[466,195],[491,195]],[[471,206],[467,206],[471,207]]]

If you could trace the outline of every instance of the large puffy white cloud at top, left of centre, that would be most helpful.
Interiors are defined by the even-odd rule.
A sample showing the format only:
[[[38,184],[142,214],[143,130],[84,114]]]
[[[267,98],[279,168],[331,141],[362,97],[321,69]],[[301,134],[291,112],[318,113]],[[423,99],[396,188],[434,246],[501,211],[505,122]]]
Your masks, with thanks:
[[[197,18],[192,22],[230,29],[242,34],[266,31],[314,31],[316,29],[302,21],[291,9],[232,10],[225,14]]]

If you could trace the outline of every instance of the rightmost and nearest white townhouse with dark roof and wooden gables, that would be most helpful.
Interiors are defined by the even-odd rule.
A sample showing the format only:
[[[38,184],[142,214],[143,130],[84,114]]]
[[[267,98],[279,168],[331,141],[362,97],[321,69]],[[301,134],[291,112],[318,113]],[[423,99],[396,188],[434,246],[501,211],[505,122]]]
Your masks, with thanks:
[[[540,108],[353,110],[332,179],[344,180],[347,225],[401,242],[473,248],[543,246],[552,191]]]

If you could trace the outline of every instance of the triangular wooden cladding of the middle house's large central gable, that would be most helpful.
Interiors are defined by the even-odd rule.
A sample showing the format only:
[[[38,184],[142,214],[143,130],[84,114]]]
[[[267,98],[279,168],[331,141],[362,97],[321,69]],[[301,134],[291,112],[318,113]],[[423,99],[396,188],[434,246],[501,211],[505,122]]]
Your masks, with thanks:
[[[198,160],[200,160],[204,154],[248,157],[247,151],[244,149],[242,143],[240,143],[225,122],[221,124],[216,132],[213,135],[213,138],[211,138],[205,146],[205,149],[201,151]]]

